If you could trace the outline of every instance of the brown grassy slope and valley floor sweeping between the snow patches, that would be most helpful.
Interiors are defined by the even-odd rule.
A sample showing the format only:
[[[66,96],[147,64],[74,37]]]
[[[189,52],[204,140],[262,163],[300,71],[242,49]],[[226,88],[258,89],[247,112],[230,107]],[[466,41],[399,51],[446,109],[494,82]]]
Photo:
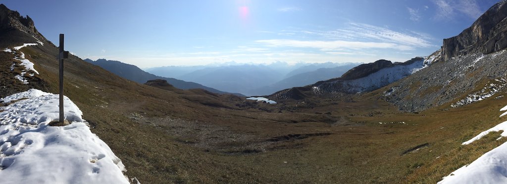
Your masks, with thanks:
[[[56,49],[27,47],[23,52],[46,81],[46,90],[56,93],[57,65],[54,56],[48,54],[56,53]],[[0,57],[2,61],[12,58]],[[507,104],[505,99],[490,98],[449,111],[437,108],[407,114],[378,101],[379,90],[364,96],[239,108],[235,105],[244,103],[243,99],[141,85],[75,57],[66,60],[65,71],[65,95],[80,107],[94,126],[92,131],[122,159],[126,174],[142,183],[435,182],[504,142],[492,141],[496,137],[490,135],[479,143],[460,145],[504,120],[498,118],[498,110]],[[221,101],[213,101],[217,98]],[[315,114],[326,112],[331,115]],[[239,154],[224,152],[228,147],[235,151],[234,142],[220,142],[224,144],[221,149],[204,149],[182,141],[197,134],[182,137],[172,133],[177,127],[154,126],[132,118],[135,114],[155,120],[198,120],[252,135],[250,142],[268,146],[260,153]],[[401,121],[406,125],[378,123]],[[295,133],[332,134],[266,141]],[[418,152],[402,154],[425,143],[428,147]]]

